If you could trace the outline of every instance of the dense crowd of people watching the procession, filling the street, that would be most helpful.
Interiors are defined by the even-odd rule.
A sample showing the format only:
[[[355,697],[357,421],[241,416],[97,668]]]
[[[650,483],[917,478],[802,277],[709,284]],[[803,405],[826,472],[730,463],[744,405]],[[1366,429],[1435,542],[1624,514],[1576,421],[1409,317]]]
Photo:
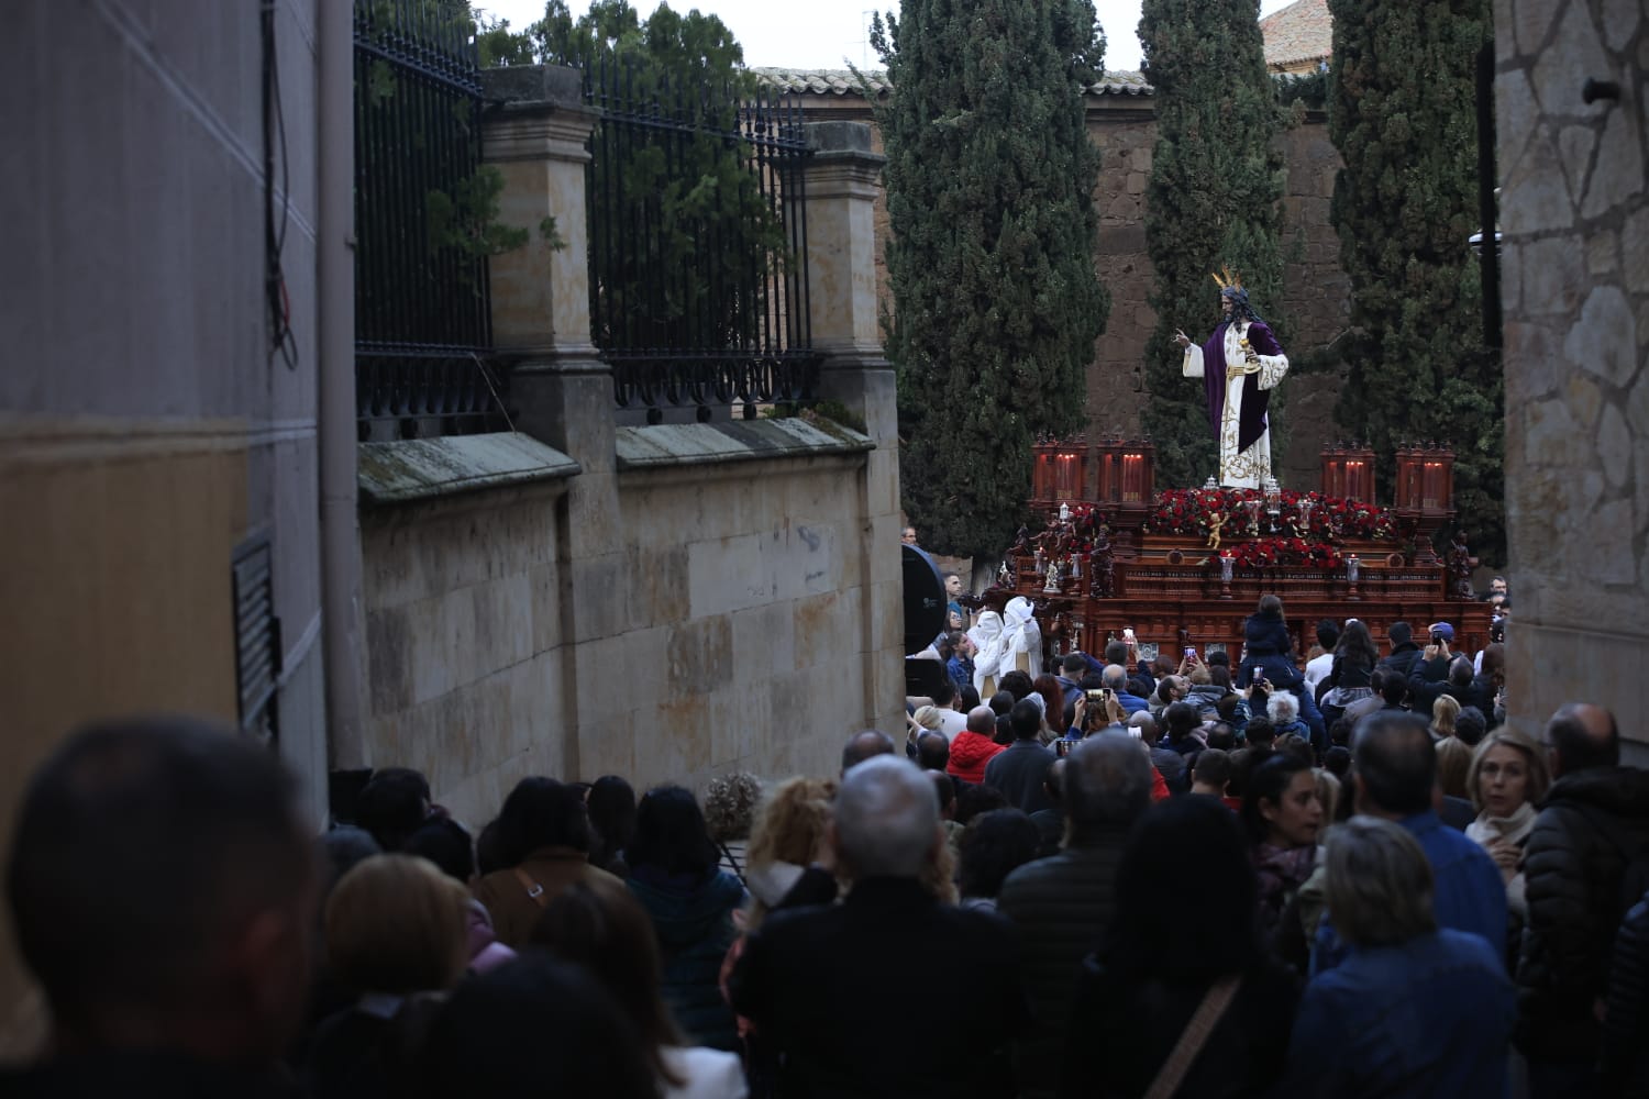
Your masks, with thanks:
[[[1613,715],[1507,725],[1448,623],[1296,656],[1266,596],[1235,662],[1044,669],[1004,618],[988,694],[947,643],[836,774],[536,776],[468,824],[383,768],[317,839],[244,740],[82,730],[7,865],[51,1041],[0,1092],[1649,1094]]]

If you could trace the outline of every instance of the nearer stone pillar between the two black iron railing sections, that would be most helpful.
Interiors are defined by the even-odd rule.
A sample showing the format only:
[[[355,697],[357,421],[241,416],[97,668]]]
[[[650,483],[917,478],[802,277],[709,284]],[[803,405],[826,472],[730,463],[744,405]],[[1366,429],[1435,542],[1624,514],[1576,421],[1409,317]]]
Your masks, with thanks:
[[[505,176],[500,221],[531,232],[524,247],[491,260],[493,344],[524,356],[510,382],[516,430],[582,468],[567,486],[556,524],[559,590],[539,593],[546,605],[534,606],[534,613],[559,615],[567,652],[562,766],[564,774],[577,774],[577,741],[594,735],[579,720],[579,684],[605,682],[613,674],[610,667],[580,667],[597,651],[584,643],[618,633],[622,613],[613,606],[623,606],[612,371],[590,341],[585,142],[599,115],[584,105],[577,69],[506,68],[483,72],[483,79],[488,97],[505,101],[482,133],[483,160]],[[561,249],[541,232],[546,217],[556,219]]]

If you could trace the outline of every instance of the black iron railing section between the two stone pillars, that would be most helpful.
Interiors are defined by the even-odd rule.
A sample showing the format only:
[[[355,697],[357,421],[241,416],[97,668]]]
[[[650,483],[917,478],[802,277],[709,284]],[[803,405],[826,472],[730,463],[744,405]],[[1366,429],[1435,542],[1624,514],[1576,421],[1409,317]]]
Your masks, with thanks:
[[[584,63],[590,328],[620,420],[813,397],[801,114],[628,58]]]

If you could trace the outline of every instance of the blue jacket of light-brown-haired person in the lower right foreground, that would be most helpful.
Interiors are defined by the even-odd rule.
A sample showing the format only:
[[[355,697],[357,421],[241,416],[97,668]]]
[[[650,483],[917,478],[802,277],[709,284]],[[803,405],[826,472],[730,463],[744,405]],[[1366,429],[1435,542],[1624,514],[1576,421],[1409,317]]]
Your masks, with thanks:
[[[1354,949],[1306,985],[1278,1094],[1501,1099],[1515,1022],[1501,951],[1474,934]]]

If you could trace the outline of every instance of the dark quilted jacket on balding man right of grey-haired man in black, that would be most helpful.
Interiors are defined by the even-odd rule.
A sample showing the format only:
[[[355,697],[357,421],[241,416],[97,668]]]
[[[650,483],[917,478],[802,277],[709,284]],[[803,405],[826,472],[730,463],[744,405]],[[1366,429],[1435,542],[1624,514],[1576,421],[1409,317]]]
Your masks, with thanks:
[[[1021,1096],[1052,1096],[1065,1056],[1065,1028],[1082,959],[1116,913],[1116,867],[1128,829],[1019,867],[1003,882],[996,911],[1019,926],[1019,959],[1036,1010],[1034,1036],[1014,1046]]]

